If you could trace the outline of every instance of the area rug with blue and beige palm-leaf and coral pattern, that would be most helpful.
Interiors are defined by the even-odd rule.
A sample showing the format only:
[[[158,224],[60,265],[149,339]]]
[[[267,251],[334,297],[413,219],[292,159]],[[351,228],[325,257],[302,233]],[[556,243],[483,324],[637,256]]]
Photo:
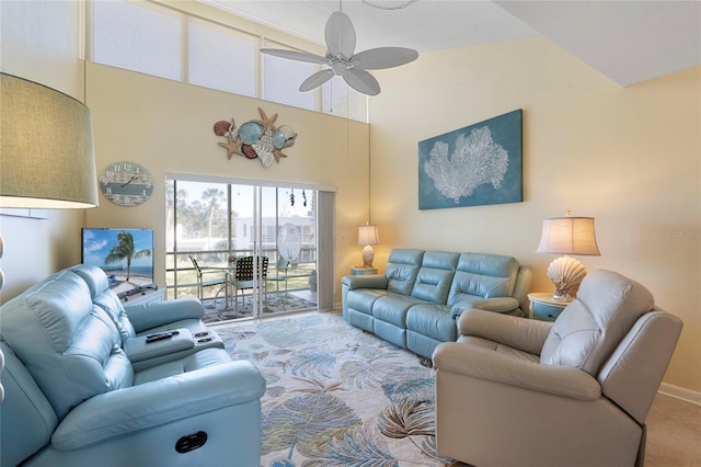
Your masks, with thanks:
[[[436,453],[434,369],[341,314],[218,327],[265,377],[262,466],[446,466]]]

